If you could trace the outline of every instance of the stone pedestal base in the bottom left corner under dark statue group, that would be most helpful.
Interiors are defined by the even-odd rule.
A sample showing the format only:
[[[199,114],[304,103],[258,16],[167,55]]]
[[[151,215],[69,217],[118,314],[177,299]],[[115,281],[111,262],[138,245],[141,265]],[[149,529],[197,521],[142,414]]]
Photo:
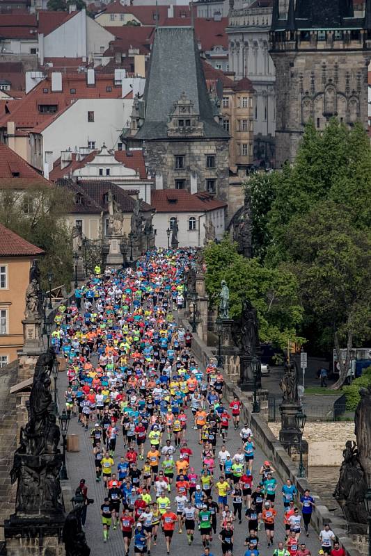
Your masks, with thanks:
[[[64,556],[64,520],[64,516],[10,516],[4,523],[7,556]]]

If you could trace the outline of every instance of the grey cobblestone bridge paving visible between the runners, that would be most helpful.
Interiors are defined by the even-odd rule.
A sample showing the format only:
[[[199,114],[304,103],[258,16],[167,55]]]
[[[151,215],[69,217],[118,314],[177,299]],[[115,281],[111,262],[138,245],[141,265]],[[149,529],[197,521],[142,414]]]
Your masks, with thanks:
[[[65,386],[67,385],[67,377],[65,373],[61,373],[60,379],[58,381],[58,390],[60,394],[60,403],[61,407],[63,407],[63,399],[62,394],[65,391]],[[190,412],[189,417],[191,417]],[[190,420],[190,419],[189,419]],[[123,548],[123,538],[122,534],[119,529],[111,530],[110,539],[107,543],[103,543],[102,540],[102,526],[100,520],[100,505],[103,502],[104,498],[104,487],[102,483],[95,482],[95,466],[92,457],[92,448],[90,442],[90,436],[88,432],[85,432],[81,425],[77,423],[77,418],[72,418],[70,422],[69,433],[77,433],[79,435],[79,452],[75,453],[68,453],[68,475],[72,486],[72,491],[76,489],[79,484],[79,480],[81,478],[86,479],[86,484],[88,486],[88,497],[94,498],[95,503],[94,505],[90,505],[88,507],[88,516],[86,520],[86,538],[88,544],[91,548],[91,556],[124,556],[124,548]],[[199,473],[200,469],[200,445],[198,445],[198,438],[196,436],[196,431],[192,428],[188,427],[187,430],[187,441],[189,443],[189,448],[191,448],[194,452],[193,457],[191,457],[191,466],[194,466],[196,472]],[[234,455],[237,451],[237,448],[241,445],[239,439],[239,432],[235,432],[232,427],[230,427],[230,437],[227,441],[227,449],[231,455]],[[148,445],[148,446],[147,446]],[[216,453],[220,450],[221,446],[221,439],[218,439],[218,443],[216,446]],[[149,449],[149,444],[147,444],[145,448]],[[123,438],[120,436],[118,438],[117,448],[116,448],[116,455],[115,455],[115,464],[120,459],[121,455],[124,455],[126,450],[123,448]],[[146,451],[145,451],[146,453]],[[175,453],[176,455],[176,453]],[[265,454],[260,450],[257,446],[255,452],[255,461],[253,467],[253,476],[255,477],[255,485],[258,479],[258,471],[260,466],[262,465],[262,461],[265,459],[269,459],[269,455]],[[139,462],[140,463],[140,462]],[[115,465],[115,468],[116,468]],[[219,475],[216,473],[216,477]],[[278,541],[284,540],[284,527],[283,527],[283,502],[281,497],[281,487],[282,482],[280,477],[276,477],[278,480],[278,488],[277,488],[277,496],[276,496],[276,510],[278,512],[278,516],[276,518],[276,534],[275,534],[275,542],[274,548],[277,547]],[[151,492],[152,496],[153,493]],[[171,496],[171,500],[175,498],[175,487],[173,486]],[[214,496],[214,500],[216,500],[216,496]],[[175,505],[172,505],[172,509],[175,509]],[[220,529],[219,529],[220,530]],[[246,538],[247,533],[247,522],[242,521],[242,525],[235,525],[235,546],[234,546],[234,556],[243,555],[246,547],[244,547],[244,539]],[[265,532],[262,530],[258,534],[260,539],[260,556],[271,556],[273,553],[274,548],[267,548],[267,541],[265,538]],[[310,537],[306,539],[302,534],[302,541],[306,541],[307,548],[310,549],[313,556],[317,555],[317,551],[319,550],[319,542],[317,539],[317,534],[310,528]],[[130,549],[130,555],[133,554],[133,546]],[[177,528],[175,528],[175,534],[173,538],[173,543],[171,545],[171,554],[180,554],[183,553],[191,553],[192,555],[201,555],[203,554],[203,545],[200,539],[200,534],[198,531],[195,532],[195,540],[192,546],[188,546],[187,537],[185,532],[183,534],[177,534]],[[221,555],[221,543],[219,539],[214,537],[211,543],[211,552],[214,556]],[[166,547],[164,544],[164,537],[161,532],[159,532],[159,539],[157,541],[157,546],[153,546],[151,550],[152,556],[163,555],[166,553]]]

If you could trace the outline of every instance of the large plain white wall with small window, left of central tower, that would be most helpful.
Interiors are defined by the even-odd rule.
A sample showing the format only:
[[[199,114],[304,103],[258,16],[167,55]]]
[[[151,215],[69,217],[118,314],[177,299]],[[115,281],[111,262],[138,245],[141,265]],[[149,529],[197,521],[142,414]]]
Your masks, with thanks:
[[[88,147],[93,149],[105,143],[108,149],[117,148],[118,138],[132,113],[132,99],[79,99],[42,131],[43,163],[54,163],[61,151]],[[94,112],[94,122],[88,122],[88,111]],[[40,170],[40,161],[32,161]]]

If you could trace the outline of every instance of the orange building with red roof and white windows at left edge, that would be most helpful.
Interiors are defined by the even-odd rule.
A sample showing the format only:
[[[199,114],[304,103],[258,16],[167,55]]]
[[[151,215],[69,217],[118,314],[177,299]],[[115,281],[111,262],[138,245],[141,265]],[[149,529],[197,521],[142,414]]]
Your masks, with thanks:
[[[44,252],[0,224],[0,367],[17,359],[23,347],[23,324],[29,272]]]

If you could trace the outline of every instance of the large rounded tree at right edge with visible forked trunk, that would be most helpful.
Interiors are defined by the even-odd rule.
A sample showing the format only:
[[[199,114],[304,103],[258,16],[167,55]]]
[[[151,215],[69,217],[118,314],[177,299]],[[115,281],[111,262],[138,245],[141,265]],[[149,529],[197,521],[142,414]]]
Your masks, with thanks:
[[[320,323],[322,344],[331,340],[338,352],[340,375],[347,377],[354,343],[371,334],[371,233],[358,229],[348,206],[319,202],[306,215],[292,219],[285,251],[297,275],[306,313]],[[332,336],[332,337],[331,337]],[[340,347],[347,347],[342,363]]]

